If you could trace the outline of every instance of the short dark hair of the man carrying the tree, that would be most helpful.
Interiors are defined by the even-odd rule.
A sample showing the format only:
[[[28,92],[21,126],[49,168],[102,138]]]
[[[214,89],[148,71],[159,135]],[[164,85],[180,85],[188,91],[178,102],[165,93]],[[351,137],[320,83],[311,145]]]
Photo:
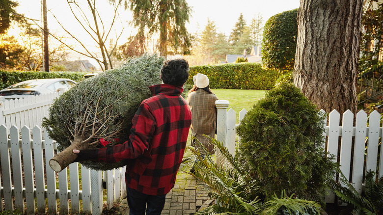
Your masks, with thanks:
[[[182,86],[189,78],[189,63],[185,59],[166,60],[161,69],[161,79],[166,84]]]

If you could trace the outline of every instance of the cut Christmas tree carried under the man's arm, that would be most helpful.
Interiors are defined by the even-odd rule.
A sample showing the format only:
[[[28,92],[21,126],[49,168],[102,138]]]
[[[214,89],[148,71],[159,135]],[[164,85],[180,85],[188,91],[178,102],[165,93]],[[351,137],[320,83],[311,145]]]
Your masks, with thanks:
[[[152,94],[148,86],[161,83],[163,57],[144,54],[129,58],[119,68],[79,82],[55,100],[42,126],[57,141],[58,153],[50,165],[61,171],[77,158],[73,149],[104,148],[125,142],[142,100]],[[96,170],[126,163],[82,161]]]

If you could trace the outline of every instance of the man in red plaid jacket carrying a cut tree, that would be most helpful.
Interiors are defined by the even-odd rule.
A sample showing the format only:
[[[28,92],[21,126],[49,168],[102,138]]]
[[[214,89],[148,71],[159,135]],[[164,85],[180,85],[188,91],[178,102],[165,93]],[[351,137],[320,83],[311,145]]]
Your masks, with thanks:
[[[95,150],[73,150],[75,161],[127,160],[125,182],[130,215],[160,215],[165,196],[175,184],[184,156],[192,112],[180,95],[189,78],[184,59],[164,62],[162,84],[149,86],[153,96],[142,101],[132,120],[129,140]]]

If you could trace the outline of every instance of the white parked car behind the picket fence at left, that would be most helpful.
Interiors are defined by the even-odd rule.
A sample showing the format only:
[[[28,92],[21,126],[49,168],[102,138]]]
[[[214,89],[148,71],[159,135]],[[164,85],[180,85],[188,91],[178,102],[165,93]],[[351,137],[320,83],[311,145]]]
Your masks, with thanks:
[[[0,98],[15,99],[31,95],[63,93],[76,84],[70,79],[33,79],[15,83],[0,90]]]

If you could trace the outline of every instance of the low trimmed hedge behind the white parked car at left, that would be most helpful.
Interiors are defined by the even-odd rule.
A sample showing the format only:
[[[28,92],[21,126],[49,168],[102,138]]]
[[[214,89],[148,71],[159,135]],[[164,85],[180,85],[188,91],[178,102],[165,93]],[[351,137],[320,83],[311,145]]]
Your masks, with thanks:
[[[71,79],[81,81],[87,72],[37,72],[37,71],[4,71],[0,70],[0,89],[12,84],[31,79]]]

